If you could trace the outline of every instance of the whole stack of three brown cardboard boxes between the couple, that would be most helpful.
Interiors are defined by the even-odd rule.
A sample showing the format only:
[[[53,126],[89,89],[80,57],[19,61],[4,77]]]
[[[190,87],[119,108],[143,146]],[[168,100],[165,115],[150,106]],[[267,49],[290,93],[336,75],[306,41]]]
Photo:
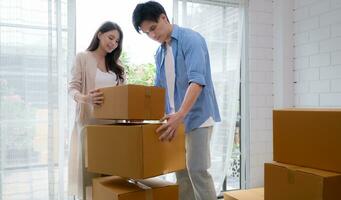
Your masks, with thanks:
[[[102,88],[98,119],[159,120],[164,116],[162,88],[125,85]],[[105,175],[93,180],[93,200],[176,200],[175,184],[150,178],[184,169],[184,127],[171,142],[159,141],[160,123],[120,123],[86,127],[85,165]]]

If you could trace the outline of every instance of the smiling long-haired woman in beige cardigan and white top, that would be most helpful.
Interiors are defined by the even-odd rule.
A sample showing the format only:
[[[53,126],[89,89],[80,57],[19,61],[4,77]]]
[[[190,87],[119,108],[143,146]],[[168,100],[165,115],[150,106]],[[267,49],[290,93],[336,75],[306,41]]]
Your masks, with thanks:
[[[87,51],[77,54],[71,70],[68,92],[76,101],[76,119],[70,142],[69,193],[78,199],[86,199],[85,187],[98,176],[84,168],[82,129],[85,125],[112,123],[93,119],[91,110],[104,100],[98,88],[125,83],[124,68],[119,61],[122,40],[121,28],[116,23],[105,22],[94,34]]]

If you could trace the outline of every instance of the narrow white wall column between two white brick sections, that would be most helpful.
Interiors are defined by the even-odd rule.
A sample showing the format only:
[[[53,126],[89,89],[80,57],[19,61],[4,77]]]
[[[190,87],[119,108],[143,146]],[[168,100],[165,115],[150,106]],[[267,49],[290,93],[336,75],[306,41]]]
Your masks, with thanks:
[[[294,106],[294,0],[274,0],[274,107]]]

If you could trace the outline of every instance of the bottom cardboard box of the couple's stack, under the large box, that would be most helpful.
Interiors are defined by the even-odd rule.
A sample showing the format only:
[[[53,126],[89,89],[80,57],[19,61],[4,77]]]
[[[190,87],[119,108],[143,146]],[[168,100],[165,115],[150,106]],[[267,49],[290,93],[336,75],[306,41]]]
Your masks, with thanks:
[[[127,181],[117,176],[93,179],[93,200],[178,200],[178,186],[157,178]]]

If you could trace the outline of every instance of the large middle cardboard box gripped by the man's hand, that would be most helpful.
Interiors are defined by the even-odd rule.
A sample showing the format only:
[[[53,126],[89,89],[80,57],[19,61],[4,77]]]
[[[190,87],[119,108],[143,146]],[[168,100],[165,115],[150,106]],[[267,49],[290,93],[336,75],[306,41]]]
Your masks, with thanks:
[[[86,131],[88,171],[134,179],[185,168],[184,126],[171,141],[159,141],[161,124],[92,125]]]

